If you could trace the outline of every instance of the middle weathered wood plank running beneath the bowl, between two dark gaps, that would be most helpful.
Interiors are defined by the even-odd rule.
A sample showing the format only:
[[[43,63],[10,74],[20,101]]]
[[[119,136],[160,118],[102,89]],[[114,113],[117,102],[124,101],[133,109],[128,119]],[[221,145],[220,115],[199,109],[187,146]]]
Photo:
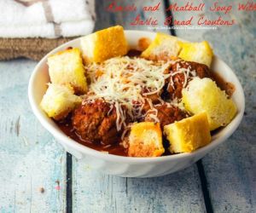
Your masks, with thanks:
[[[97,2],[96,29],[122,25],[125,29],[148,30],[130,26],[135,13],[107,13],[108,1]],[[126,1],[135,3],[136,1]],[[147,1],[154,5],[158,1]],[[137,1],[142,8],[145,2]],[[148,17],[144,14],[144,17]],[[165,19],[163,8],[157,14]],[[169,30],[164,32],[169,33]],[[103,175],[73,158],[73,211],[74,212],[205,212],[201,184],[196,166],[169,176],[157,178],[121,178]]]

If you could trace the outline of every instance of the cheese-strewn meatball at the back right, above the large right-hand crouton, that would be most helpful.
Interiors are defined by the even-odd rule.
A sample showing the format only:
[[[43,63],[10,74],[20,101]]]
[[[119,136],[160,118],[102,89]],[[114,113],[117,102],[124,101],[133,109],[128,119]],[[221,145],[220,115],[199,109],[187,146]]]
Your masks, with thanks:
[[[192,77],[192,73],[191,73],[192,71],[195,71],[195,76],[198,76],[199,78],[211,78],[211,72],[209,71],[208,66],[200,64],[200,63],[192,62],[192,61],[184,61],[184,60],[177,61],[166,72],[167,73],[168,72],[169,73],[177,72],[179,68],[185,68],[185,69],[189,68],[190,72],[189,72],[188,81]],[[172,77],[173,87],[172,87],[172,85],[168,86],[168,84],[171,81],[171,78],[168,78],[166,80],[166,88],[165,89],[171,99],[182,97],[182,89],[183,89],[184,80],[185,79],[184,79],[183,73],[177,73],[176,75],[174,75]],[[166,94],[166,93],[164,93],[164,94]]]

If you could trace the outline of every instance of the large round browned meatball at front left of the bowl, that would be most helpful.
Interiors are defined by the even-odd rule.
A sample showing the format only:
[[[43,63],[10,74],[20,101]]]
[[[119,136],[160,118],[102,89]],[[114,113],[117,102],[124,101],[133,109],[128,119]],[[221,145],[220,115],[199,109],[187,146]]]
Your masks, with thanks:
[[[116,111],[102,100],[85,102],[73,112],[72,124],[84,140],[113,144],[118,141]]]

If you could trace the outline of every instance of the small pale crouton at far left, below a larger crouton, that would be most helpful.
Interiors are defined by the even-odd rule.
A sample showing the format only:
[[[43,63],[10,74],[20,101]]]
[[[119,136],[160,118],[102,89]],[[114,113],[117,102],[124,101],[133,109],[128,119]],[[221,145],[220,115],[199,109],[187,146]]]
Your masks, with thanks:
[[[65,118],[82,101],[79,96],[73,95],[73,93],[71,86],[49,83],[40,107],[49,118],[55,118],[55,120]]]

